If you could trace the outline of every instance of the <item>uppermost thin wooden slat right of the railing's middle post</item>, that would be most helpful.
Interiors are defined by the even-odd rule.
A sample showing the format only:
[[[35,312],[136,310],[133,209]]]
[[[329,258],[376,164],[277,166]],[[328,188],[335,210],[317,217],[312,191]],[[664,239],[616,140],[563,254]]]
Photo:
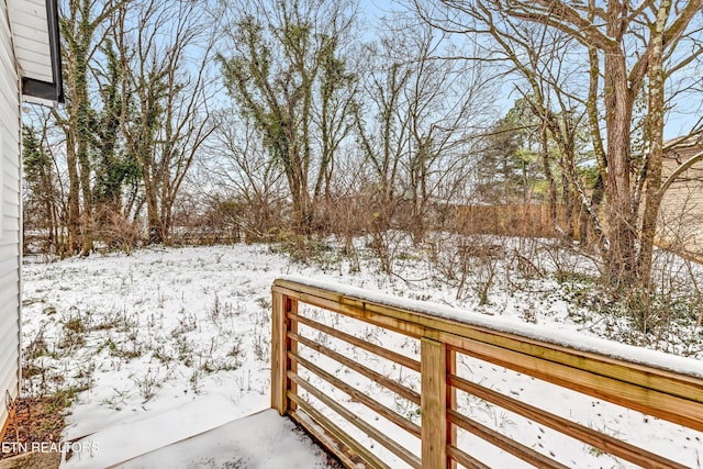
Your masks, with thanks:
[[[535,407],[492,389],[484,388],[464,378],[449,376],[447,377],[447,382],[449,386],[473,397],[483,399],[484,401],[491,402],[506,411],[520,414],[533,422],[556,429],[563,435],[579,439],[587,445],[602,449],[605,453],[610,453],[613,456],[626,459],[638,466],[648,467],[648,465],[651,464],[657,465],[656,467],[660,468],[678,467],[677,462],[662,458],[654,453],[649,453],[646,449],[622,442],[576,422],[571,422],[567,418],[560,417],[559,415],[554,415],[542,409]]]

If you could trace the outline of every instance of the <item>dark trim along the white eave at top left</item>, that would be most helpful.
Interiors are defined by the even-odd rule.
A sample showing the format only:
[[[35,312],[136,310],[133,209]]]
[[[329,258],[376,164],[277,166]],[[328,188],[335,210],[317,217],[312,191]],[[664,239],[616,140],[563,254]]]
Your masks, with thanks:
[[[46,0],[46,21],[48,23],[48,46],[52,53],[52,75],[53,82],[36,80],[33,78],[22,79],[22,93],[35,98],[46,99],[63,103],[64,101],[64,79],[62,77],[62,49],[60,33],[58,29],[57,0]]]

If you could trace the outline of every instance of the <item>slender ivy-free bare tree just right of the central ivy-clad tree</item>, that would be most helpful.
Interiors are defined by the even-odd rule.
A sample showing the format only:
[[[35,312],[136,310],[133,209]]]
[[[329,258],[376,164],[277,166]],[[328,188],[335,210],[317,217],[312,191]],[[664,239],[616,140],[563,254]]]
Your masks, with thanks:
[[[436,211],[433,199],[450,199],[461,182],[456,176],[465,174],[479,123],[489,115],[489,86],[481,64],[444,60],[446,35],[426,24],[397,19],[387,31],[368,47],[358,132],[378,182],[377,231],[388,230],[403,205],[404,226],[420,242]]]

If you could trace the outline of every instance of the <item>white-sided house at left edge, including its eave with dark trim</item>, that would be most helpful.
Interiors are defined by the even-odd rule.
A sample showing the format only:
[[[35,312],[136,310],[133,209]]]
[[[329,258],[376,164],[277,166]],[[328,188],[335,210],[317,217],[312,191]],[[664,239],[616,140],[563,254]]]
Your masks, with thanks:
[[[56,0],[0,0],[0,435],[20,392],[21,102],[63,101]]]

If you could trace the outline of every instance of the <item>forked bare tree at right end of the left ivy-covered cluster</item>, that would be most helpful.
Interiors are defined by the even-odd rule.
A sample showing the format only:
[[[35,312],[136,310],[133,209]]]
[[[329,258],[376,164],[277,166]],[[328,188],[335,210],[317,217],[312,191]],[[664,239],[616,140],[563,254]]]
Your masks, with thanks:
[[[124,93],[121,130],[140,165],[148,241],[168,241],[176,197],[213,131],[208,63],[219,27],[192,1],[124,3],[113,16]]]

